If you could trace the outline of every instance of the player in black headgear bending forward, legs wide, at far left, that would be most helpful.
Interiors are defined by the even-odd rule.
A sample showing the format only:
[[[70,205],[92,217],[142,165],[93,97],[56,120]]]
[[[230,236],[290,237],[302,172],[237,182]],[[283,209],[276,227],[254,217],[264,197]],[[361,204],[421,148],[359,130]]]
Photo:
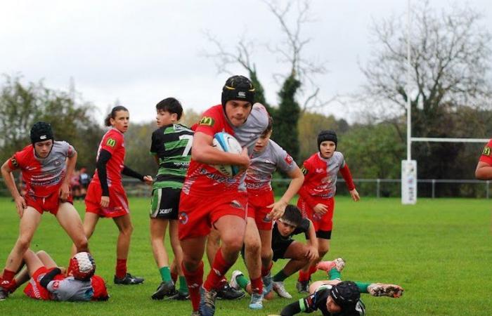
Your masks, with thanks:
[[[30,131],[31,145],[15,152],[1,166],[1,174],[10,190],[19,213],[19,237],[8,255],[4,275],[0,279],[0,299],[15,287],[13,277],[29,249],[30,242],[41,222],[41,215],[48,211],[70,236],[77,251],[87,251],[88,243],[79,213],[72,205],[69,181],[77,162],[77,152],[65,141],[54,140],[51,125],[39,121]],[[22,197],[13,180],[13,171],[20,170],[26,183]]]

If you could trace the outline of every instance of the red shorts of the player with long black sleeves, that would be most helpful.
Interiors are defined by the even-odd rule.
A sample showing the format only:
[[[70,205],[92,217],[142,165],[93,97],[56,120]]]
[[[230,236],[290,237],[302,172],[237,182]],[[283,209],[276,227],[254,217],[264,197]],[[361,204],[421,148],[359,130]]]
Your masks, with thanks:
[[[101,217],[118,217],[124,216],[130,213],[128,206],[127,193],[124,192],[122,185],[111,185],[110,186],[110,204],[108,207],[101,207],[101,196],[103,195],[103,190],[101,185],[93,181],[87,189],[86,195],[86,212],[96,213]]]

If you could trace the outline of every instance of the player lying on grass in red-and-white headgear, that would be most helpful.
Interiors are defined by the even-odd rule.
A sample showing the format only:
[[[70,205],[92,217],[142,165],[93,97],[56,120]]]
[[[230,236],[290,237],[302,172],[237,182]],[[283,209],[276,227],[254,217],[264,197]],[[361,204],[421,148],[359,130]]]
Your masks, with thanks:
[[[46,251],[28,249],[26,267],[15,275],[17,287],[29,281],[24,293],[30,298],[52,301],[107,301],[104,279],[94,275],[96,264],[88,252],[79,252],[70,259],[68,275],[59,268]]]

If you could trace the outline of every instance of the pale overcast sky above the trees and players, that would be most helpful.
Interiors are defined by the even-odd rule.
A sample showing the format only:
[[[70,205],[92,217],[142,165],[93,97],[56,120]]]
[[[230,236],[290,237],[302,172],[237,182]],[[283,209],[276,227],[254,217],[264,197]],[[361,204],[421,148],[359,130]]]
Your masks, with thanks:
[[[436,8],[451,3],[431,1]],[[467,3],[491,29],[492,1]],[[64,91],[72,77],[101,117],[116,100],[129,108],[132,121],[153,120],[155,104],[169,96],[197,112],[220,103],[228,74],[219,74],[214,60],[203,56],[215,51],[205,32],[228,49],[240,37],[257,43],[252,60],[272,104],[278,91],[273,74],[286,70],[264,48],[280,43],[283,33],[260,0],[0,0],[0,8],[0,73],[20,74],[25,83],[43,79],[48,88]],[[321,98],[356,91],[364,81],[358,61],[364,63],[374,48],[372,21],[405,14],[406,8],[406,0],[311,1],[313,22],[302,33],[311,42],[304,56],[325,60],[328,72],[317,77]],[[230,70],[246,74],[240,67]],[[323,110],[350,121],[355,111],[337,105]]]

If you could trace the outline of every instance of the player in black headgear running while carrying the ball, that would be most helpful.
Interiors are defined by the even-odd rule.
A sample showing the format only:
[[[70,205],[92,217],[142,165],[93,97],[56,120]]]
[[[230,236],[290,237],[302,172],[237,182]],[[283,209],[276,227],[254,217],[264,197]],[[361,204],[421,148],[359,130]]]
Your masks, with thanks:
[[[181,190],[179,239],[183,248],[183,272],[190,291],[193,315],[214,315],[216,289],[238,258],[246,229],[247,192],[245,173],[229,178],[212,165],[250,164],[246,147],[254,145],[268,125],[263,105],[254,103],[250,79],[233,76],[222,89],[222,103],[205,111],[193,136],[191,162]],[[222,152],[212,146],[214,135],[229,133],[244,148],[240,154]],[[213,225],[220,233],[221,248],[212,270],[203,282],[202,256],[205,239]],[[201,299],[200,299],[201,292]]]

